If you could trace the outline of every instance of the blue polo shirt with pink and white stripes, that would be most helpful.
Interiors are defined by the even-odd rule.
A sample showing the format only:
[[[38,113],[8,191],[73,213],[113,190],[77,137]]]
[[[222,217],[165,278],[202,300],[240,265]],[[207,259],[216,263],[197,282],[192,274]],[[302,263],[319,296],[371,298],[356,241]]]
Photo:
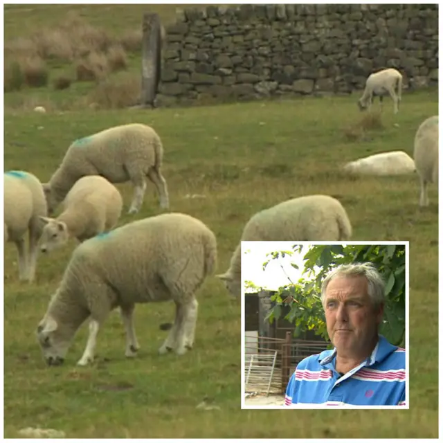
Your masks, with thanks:
[[[406,354],[379,335],[372,354],[346,374],[335,370],[336,350],[303,359],[289,379],[284,404],[404,406]]]

